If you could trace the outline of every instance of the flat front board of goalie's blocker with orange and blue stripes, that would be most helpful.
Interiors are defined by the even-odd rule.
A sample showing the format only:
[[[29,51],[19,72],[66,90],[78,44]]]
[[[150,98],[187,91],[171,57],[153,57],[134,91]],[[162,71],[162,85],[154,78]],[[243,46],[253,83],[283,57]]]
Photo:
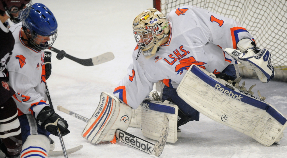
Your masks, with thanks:
[[[120,101],[109,93],[102,92],[100,103],[82,132],[82,136],[92,143],[99,143],[112,125],[120,111]]]

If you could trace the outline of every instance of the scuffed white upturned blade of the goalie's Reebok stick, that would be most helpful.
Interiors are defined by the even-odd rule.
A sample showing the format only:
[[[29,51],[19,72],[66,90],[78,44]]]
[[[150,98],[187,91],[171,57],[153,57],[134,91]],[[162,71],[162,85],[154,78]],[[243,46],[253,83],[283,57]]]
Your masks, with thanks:
[[[164,146],[166,144],[167,136],[168,136],[168,128],[169,128],[169,120],[164,114],[163,118],[163,126],[162,131],[160,132],[160,137],[158,138],[158,142],[154,144],[154,155],[159,157],[164,149]]]

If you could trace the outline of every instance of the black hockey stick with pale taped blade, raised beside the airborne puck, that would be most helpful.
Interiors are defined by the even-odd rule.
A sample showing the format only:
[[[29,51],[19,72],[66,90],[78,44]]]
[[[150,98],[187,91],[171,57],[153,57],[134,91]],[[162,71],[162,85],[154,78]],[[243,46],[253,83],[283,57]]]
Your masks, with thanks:
[[[54,47],[49,47],[48,49],[50,49],[51,51],[53,51],[55,53],[61,52],[59,49],[56,49]],[[98,65],[98,64],[113,60],[115,58],[115,56],[112,52],[106,52],[104,54],[101,54],[101,55],[98,55],[96,57],[92,57],[89,59],[79,59],[79,58],[73,57],[69,54],[66,54],[65,57],[67,57],[68,59],[71,59],[71,60],[73,60],[73,61],[75,61],[81,65],[84,65],[84,66]],[[59,60],[61,60],[61,59],[59,59]]]

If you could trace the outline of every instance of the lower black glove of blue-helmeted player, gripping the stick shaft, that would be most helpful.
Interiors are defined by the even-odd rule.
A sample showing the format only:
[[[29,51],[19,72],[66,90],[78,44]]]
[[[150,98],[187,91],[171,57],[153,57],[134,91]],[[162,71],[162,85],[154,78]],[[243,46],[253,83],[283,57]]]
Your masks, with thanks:
[[[55,136],[59,136],[57,127],[60,129],[62,136],[70,133],[67,121],[55,113],[51,107],[46,106],[40,111],[37,116],[37,123]]]

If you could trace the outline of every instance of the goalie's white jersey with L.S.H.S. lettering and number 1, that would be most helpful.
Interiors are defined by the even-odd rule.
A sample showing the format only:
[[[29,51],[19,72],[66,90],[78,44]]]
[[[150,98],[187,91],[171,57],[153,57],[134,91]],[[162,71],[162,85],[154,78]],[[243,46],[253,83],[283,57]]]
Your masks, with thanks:
[[[164,79],[167,86],[177,88],[191,64],[219,74],[236,63],[223,50],[236,49],[236,43],[243,38],[253,39],[235,20],[195,6],[174,9],[166,18],[170,25],[168,42],[150,59],[142,53],[137,58],[136,46],[128,74],[115,88],[114,96],[135,109],[155,82]]]

